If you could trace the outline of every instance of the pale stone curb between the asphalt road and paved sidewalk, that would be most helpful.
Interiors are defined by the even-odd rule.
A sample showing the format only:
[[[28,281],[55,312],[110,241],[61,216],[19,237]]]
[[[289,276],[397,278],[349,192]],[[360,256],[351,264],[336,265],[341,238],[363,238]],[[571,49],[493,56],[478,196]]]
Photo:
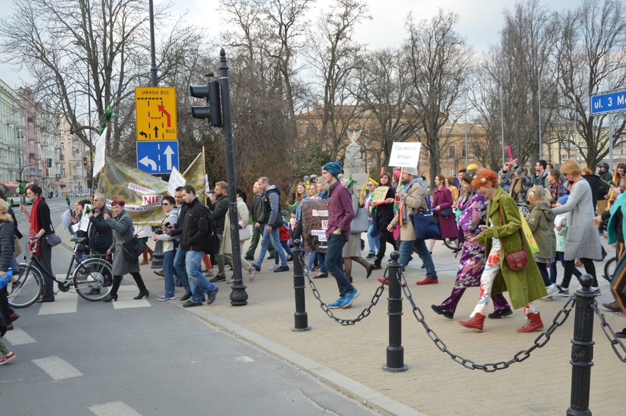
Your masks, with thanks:
[[[178,307],[182,308],[180,306]],[[420,413],[417,410],[414,410],[413,408],[404,405],[403,403],[396,402],[396,400],[384,396],[376,390],[367,387],[366,385],[356,382],[351,378],[342,375],[341,373],[337,373],[336,371],[331,370],[331,368],[328,368],[314,360],[311,360],[304,355],[294,352],[289,348],[283,347],[278,343],[270,341],[267,338],[261,337],[257,333],[254,333],[244,327],[241,327],[240,325],[219,317],[214,313],[207,312],[205,310],[197,310],[197,308],[193,308],[193,310],[186,310],[186,312],[195,315],[203,321],[210,323],[214,327],[222,329],[223,331],[230,333],[235,337],[240,338],[254,345],[255,347],[264,350],[265,352],[284,359],[295,367],[300,368],[300,370],[304,370],[305,372],[313,375],[322,382],[331,385],[347,397],[359,400],[359,402],[363,403],[367,407],[372,408],[373,410],[382,412],[387,415],[426,416],[425,413]]]

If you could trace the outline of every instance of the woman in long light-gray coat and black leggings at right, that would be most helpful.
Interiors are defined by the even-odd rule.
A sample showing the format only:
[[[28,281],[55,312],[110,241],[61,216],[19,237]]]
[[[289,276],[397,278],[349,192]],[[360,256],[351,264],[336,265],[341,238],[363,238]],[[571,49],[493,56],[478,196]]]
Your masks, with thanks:
[[[602,258],[600,248],[600,235],[598,230],[593,228],[593,198],[591,187],[580,175],[582,166],[573,159],[566,160],[561,166],[561,173],[572,183],[572,190],[567,203],[557,208],[552,208],[555,214],[569,213],[567,216],[567,237],[565,239],[565,272],[563,282],[558,287],[557,295],[569,296],[568,287],[574,271],[575,261],[578,258],[585,271],[593,276],[592,290],[599,293],[598,280],[595,278],[595,265],[593,260]]]

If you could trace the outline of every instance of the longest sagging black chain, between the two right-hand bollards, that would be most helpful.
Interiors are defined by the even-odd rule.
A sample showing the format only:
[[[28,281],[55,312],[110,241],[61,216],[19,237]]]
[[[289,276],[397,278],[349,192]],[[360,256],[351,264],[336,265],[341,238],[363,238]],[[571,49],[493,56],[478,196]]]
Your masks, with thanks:
[[[416,318],[416,320],[418,320],[419,323],[422,324],[424,330],[426,330],[426,335],[428,335],[431,341],[434,342],[434,345],[439,348],[439,351],[447,353],[454,362],[463,365],[463,367],[468,368],[469,370],[483,370],[486,373],[493,373],[496,370],[504,370],[505,368],[510,367],[510,365],[513,363],[520,363],[526,360],[526,358],[530,357],[530,353],[533,352],[535,348],[541,348],[546,345],[546,343],[548,343],[548,341],[550,340],[550,336],[553,332],[555,332],[557,327],[560,327],[561,325],[563,325],[563,323],[565,323],[567,318],[570,316],[570,312],[572,312],[574,304],[576,303],[576,296],[572,295],[572,297],[570,297],[569,300],[565,303],[565,306],[563,306],[563,308],[557,313],[557,316],[554,317],[554,319],[552,320],[552,325],[550,325],[550,327],[544,332],[541,332],[541,335],[535,338],[535,342],[527,350],[521,350],[520,352],[513,355],[513,358],[508,361],[476,364],[476,362],[474,362],[473,360],[469,360],[469,358],[463,358],[460,355],[456,355],[448,350],[446,344],[426,323],[424,313],[415,304],[415,301],[413,300],[413,295],[411,295],[411,290],[409,289],[409,285],[406,282],[406,278],[404,277],[404,273],[402,273],[401,271],[398,271],[398,280],[404,292],[404,297],[406,297],[409,302],[411,302],[414,317]],[[559,320],[561,315],[563,315],[563,318]]]

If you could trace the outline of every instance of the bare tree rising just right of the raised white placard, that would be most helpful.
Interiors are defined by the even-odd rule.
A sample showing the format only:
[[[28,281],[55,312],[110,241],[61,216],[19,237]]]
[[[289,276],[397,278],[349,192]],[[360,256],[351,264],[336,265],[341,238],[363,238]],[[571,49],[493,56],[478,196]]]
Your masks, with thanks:
[[[431,186],[439,173],[441,151],[448,145],[442,128],[454,124],[456,101],[463,93],[471,48],[454,30],[458,15],[439,13],[431,21],[416,23],[409,14],[408,50],[414,96],[411,106],[420,118],[423,145],[430,161]],[[441,140],[443,138],[443,140]]]

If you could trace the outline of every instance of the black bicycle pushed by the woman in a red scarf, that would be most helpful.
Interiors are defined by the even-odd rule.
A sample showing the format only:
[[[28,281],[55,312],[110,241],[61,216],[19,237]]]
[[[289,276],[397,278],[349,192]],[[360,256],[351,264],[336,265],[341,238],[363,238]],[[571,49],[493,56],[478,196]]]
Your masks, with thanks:
[[[24,255],[27,263],[19,263],[19,278],[13,282],[9,291],[9,305],[13,308],[26,308],[33,305],[43,292],[43,273],[57,283],[59,292],[68,292],[75,289],[78,295],[90,302],[102,300],[111,291],[113,282],[113,266],[103,258],[90,256],[76,259],[78,245],[84,243],[86,238],[72,238],[74,250],[72,260],[69,262],[68,272],[63,279],[57,278],[50,270],[41,264],[39,258],[34,255],[39,245],[39,240],[32,240],[33,245],[29,258]],[[33,264],[35,263],[35,264]],[[76,264],[74,270],[72,267]]]

